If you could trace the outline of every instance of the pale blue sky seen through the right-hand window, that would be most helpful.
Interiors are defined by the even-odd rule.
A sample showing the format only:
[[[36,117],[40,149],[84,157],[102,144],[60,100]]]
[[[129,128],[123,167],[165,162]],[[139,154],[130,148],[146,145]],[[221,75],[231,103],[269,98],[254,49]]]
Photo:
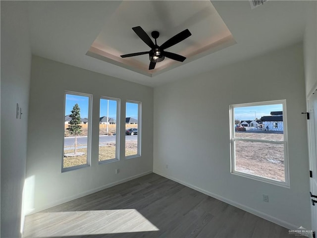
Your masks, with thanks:
[[[238,120],[254,120],[261,119],[263,116],[271,116],[271,112],[283,111],[282,104],[241,107],[234,109],[234,119]]]

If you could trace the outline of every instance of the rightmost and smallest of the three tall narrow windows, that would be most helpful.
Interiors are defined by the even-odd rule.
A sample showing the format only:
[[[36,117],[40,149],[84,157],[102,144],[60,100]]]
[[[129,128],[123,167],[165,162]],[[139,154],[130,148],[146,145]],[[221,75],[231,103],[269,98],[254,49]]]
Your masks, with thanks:
[[[141,103],[128,101],[125,111],[125,156],[140,156]]]

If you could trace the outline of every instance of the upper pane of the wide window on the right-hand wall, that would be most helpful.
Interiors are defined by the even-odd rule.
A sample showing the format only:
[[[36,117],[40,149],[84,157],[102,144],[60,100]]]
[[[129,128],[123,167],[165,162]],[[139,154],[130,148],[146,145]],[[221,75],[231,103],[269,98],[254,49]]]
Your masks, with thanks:
[[[284,140],[283,105],[234,108],[234,137]]]

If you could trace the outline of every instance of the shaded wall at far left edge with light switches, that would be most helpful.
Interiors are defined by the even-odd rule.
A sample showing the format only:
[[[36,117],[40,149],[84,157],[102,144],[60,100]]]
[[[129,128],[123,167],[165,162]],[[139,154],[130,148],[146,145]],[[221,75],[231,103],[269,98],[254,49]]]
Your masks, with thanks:
[[[20,237],[31,49],[26,3],[1,1],[1,237]],[[16,104],[22,108],[16,119]]]

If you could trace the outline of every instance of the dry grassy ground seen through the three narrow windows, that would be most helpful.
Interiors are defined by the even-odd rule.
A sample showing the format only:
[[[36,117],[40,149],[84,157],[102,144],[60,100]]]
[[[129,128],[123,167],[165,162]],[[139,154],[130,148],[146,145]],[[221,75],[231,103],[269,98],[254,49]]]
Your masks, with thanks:
[[[84,155],[64,157],[64,168],[86,165],[87,164],[87,148],[81,148],[78,152],[85,152]],[[67,150],[65,147],[64,154],[74,153],[74,150]],[[125,156],[137,154],[137,141],[127,141],[125,148]],[[115,143],[105,143],[99,146],[99,161],[106,161],[115,158]]]

